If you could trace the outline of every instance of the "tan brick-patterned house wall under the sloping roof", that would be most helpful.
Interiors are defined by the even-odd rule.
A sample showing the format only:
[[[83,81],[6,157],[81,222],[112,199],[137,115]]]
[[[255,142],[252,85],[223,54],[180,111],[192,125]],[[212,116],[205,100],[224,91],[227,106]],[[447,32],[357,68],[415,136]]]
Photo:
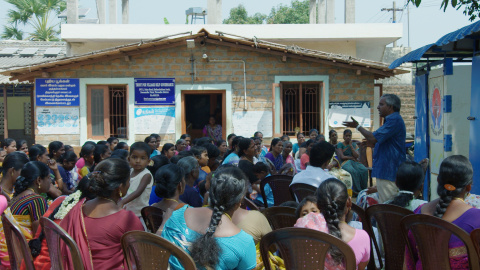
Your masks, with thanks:
[[[206,63],[202,54],[208,53],[210,59],[241,59],[246,62],[247,73],[247,109],[272,110],[272,84],[275,76],[325,75],[329,80],[329,100],[348,101],[366,100],[373,104],[374,76],[355,70],[338,68],[320,63],[312,63],[288,58],[282,62],[281,57],[207,44],[193,50],[196,59],[196,80],[194,84],[231,84],[231,112],[244,109],[243,66],[240,63]],[[78,66],[64,71],[52,72],[52,78],[175,78],[176,84],[191,84],[192,72],[189,62],[191,52],[177,47],[148,52],[134,56],[130,61],[124,58]],[[129,89],[130,95],[133,89]],[[84,101],[80,101],[81,103]],[[227,102],[229,102],[227,100]],[[279,104],[277,104],[278,106]],[[374,106],[372,106],[373,115]],[[279,116],[277,116],[279,117]],[[132,123],[133,121],[130,121]],[[86,133],[86,130],[81,130]],[[356,132],[356,131],[355,131]],[[175,140],[172,134],[161,134],[162,144]],[[143,140],[145,135],[136,134],[136,140]],[[37,136],[37,142],[46,143],[54,140],[51,136]],[[55,139],[64,140],[66,144],[78,145],[78,136]]]

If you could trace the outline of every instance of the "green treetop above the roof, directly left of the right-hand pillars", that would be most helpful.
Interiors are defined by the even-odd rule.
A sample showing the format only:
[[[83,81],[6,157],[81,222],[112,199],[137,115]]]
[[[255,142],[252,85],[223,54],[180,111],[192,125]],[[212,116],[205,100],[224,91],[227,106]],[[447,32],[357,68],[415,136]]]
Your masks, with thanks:
[[[290,6],[273,7],[267,18],[267,23],[275,24],[306,24],[309,23],[309,1],[293,0]]]

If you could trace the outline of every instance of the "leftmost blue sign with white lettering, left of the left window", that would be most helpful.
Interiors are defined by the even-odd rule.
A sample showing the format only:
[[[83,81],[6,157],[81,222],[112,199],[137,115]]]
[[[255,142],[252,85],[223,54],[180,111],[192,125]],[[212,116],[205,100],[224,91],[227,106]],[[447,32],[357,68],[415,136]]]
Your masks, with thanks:
[[[35,79],[37,106],[80,106],[80,79]]]

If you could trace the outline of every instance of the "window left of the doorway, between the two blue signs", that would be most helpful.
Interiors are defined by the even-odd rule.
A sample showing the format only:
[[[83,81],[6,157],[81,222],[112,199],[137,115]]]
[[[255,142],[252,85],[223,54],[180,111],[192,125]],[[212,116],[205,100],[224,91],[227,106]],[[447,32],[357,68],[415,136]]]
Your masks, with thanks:
[[[127,138],[127,86],[87,87],[87,130],[91,139]]]

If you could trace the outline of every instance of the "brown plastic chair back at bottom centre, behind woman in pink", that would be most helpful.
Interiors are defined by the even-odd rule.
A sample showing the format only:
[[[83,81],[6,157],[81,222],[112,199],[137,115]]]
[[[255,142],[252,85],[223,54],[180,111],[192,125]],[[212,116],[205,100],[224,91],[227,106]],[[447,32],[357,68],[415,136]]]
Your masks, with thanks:
[[[327,233],[305,228],[284,228],[269,232],[260,240],[260,254],[268,262],[268,252],[275,245],[286,269],[323,269],[327,252],[338,248],[344,255],[345,269],[354,270],[355,254],[341,239]],[[321,267],[322,266],[322,267]],[[266,270],[271,270],[269,263]]]

